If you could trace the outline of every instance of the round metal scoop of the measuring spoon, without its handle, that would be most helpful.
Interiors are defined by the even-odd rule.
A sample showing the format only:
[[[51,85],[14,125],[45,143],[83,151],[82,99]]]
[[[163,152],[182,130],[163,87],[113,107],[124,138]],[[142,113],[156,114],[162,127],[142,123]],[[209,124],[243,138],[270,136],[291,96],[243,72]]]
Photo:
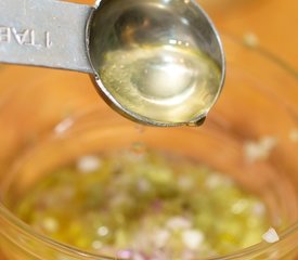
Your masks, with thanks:
[[[219,35],[190,0],[102,0],[87,49],[107,103],[142,123],[197,126],[221,92]]]

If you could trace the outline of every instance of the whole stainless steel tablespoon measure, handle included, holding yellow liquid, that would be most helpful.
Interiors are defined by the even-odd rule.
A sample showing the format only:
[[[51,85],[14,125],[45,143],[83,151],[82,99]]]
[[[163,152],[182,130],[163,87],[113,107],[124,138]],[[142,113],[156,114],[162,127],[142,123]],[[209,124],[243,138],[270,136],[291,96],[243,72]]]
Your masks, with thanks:
[[[197,126],[224,81],[222,43],[192,0],[0,1],[0,63],[91,74],[141,123]]]

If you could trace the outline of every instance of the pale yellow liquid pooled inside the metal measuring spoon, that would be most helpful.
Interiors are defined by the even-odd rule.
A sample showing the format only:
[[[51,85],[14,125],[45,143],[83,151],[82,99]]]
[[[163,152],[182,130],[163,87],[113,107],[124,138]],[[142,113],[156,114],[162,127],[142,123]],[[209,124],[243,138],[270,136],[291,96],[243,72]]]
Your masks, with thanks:
[[[218,65],[185,44],[109,51],[99,73],[122,107],[160,122],[187,122],[205,114],[220,86]]]

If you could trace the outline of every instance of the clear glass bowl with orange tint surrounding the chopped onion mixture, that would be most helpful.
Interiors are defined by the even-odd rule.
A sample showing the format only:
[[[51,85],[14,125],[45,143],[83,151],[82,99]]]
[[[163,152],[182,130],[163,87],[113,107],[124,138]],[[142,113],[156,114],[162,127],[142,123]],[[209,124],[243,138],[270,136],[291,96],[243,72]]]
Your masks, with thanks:
[[[280,240],[270,244],[260,238],[259,244],[209,259],[297,259],[297,74],[237,39],[225,36],[223,42],[225,87],[199,128],[164,129],[131,122],[111,110],[86,75],[2,66],[1,259],[117,258],[43,236],[9,208],[51,169],[134,143],[192,157],[229,174],[265,203],[272,225],[278,226]]]

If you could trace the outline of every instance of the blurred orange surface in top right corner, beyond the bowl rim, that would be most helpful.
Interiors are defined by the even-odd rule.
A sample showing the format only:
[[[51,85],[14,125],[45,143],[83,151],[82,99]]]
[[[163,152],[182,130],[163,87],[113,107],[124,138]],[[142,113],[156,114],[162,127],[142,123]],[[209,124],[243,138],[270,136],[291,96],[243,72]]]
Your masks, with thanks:
[[[297,0],[198,0],[219,31],[244,37],[255,34],[259,44],[298,70]]]

